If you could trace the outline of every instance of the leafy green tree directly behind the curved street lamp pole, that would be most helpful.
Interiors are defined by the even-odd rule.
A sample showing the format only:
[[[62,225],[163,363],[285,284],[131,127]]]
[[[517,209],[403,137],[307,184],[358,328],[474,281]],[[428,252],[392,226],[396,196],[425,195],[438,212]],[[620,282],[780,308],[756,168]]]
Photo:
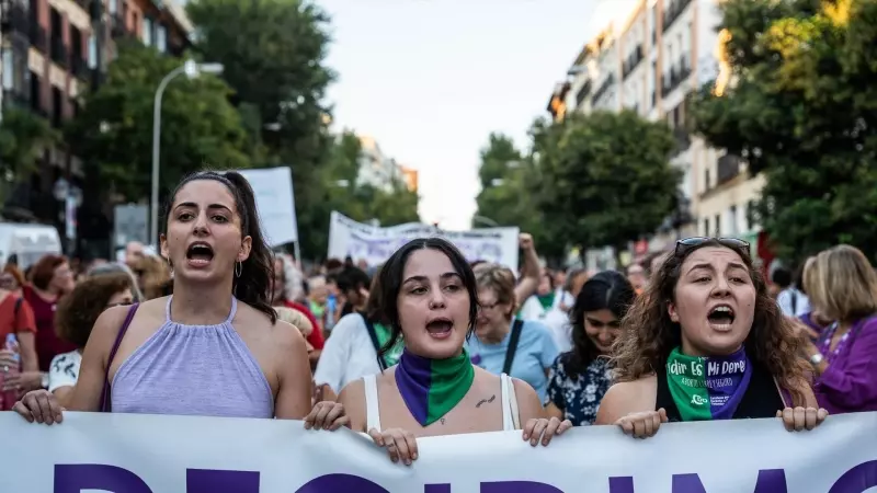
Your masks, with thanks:
[[[161,79],[180,60],[132,43],[119,47],[106,82],[86,93],[82,111],[65,129],[92,185],[113,184],[129,199],[146,198],[152,169],[152,102]],[[219,79],[179,77],[168,85],[161,110],[160,190],[205,167],[249,168],[247,135]],[[95,188],[92,192],[105,192]],[[88,193],[88,191],[87,191]]]

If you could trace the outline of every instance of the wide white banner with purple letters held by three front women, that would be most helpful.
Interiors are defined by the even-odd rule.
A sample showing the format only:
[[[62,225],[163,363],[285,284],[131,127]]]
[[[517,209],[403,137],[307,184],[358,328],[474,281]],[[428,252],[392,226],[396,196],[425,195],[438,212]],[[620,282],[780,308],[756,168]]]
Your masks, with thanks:
[[[812,432],[779,420],[669,424],[640,440],[573,428],[533,448],[517,432],[418,440],[406,467],[360,434],[298,421],[0,413],[9,493],[863,493],[877,486],[877,413]]]

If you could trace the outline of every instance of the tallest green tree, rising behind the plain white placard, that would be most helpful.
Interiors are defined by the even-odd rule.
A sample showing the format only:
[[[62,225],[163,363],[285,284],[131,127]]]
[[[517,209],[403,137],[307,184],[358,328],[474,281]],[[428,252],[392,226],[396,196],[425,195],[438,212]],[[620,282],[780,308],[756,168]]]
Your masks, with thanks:
[[[326,252],[326,199],[335,159],[324,103],[334,74],[323,62],[329,18],[304,0],[198,0],[186,5],[197,28],[194,50],[225,66],[232,103],[259,149],[261,165],[293,170],[301,250]]]

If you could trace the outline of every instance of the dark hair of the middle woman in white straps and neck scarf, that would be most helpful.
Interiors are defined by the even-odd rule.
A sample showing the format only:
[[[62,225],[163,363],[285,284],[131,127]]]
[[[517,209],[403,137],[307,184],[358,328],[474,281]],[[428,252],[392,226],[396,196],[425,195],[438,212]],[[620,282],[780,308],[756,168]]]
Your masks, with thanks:
[[[380,297],[380,312],[384,320],[390,324],[390,339],[380,348],[379,355],[381,356],[390,351],[402,335],[399,308],[396,302],[405,282],[402,277],[405,276],[405,266],[408,263],[408,257],[417,250],[436,250],[447,255],[454,272],[463,279],[463,286],[469,295],[469,326],[466,336],[468,337],[475,331],[475,322],[478,317],[478,288],[475,285],[475,273],[466,262],[466,257],[453,243],[443,238],[411,240],[390,255],[376,276],[376,285],[379,288],[377,294]]]

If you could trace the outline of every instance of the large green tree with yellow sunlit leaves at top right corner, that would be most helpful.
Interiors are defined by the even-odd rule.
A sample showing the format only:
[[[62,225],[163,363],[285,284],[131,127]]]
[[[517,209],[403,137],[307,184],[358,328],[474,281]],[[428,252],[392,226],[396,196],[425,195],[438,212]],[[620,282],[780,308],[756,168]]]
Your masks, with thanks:
[[[728,0],[730,84],[703,88],[695,128],[766,185],[755,216],[777,253],[877,252],[877,2]]]

